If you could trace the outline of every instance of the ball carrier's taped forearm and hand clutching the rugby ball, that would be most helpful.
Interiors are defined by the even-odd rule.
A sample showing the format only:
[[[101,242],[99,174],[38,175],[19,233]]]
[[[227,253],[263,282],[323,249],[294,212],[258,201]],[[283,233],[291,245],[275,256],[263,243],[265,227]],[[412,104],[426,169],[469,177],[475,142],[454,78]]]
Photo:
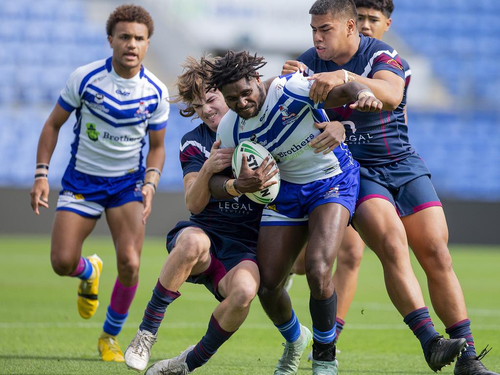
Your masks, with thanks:
[[[215,174],[210,178],[210,193],[216,199],[226,199],[231,196],[239,196],[245,192],[255,192],[269,187],[277,181],[269,181],[279,170],[271,171],[274,160],[269,161],[266,157],[262,163],[252,170],[246,161],[246,155],[241,157],[241,169],[238,178]]]

